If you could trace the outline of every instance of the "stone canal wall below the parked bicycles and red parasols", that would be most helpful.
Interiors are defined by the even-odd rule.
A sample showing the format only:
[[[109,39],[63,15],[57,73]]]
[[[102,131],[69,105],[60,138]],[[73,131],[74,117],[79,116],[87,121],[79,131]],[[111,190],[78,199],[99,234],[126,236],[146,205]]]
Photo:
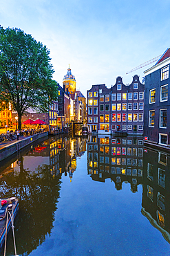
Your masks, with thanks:
[[[36,134],[34,136],[24,138],[23,140],[19,140],[17,142],[11,143],[10,145],[4,146],[2,149],[0,149],[0,161],[8,158],[16,152],[19,152],[20,149],[23,149],[23,147],[29,145],[30,143],[33,143],[35,140],[46,136],[48,136],[48,131],[43,132],[42,134]]]

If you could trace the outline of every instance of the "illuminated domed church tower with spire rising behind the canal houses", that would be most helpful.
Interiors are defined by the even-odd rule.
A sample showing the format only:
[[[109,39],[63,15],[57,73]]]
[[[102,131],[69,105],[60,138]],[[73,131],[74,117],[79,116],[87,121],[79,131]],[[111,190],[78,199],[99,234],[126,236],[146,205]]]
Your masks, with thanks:
[[[74,75],[72,75],[70,64],[67,69],[67,74],[63,78],[63,88],[65,86],[65,90],[68,89],[72,98],[74,98],[76,92],[76,79]]]

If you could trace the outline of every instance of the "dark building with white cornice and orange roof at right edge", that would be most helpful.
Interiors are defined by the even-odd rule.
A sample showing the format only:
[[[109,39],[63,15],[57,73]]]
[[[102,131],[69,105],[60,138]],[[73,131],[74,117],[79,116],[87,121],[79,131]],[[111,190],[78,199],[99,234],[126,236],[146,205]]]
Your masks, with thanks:
[[[169,149],[170,48],[160,60],[145,71],[145,143]]]

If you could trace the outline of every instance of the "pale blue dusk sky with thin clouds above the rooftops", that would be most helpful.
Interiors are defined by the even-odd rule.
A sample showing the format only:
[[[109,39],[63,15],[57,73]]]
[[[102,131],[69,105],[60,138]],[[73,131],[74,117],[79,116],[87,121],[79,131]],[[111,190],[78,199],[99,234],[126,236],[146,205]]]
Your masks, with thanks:
[[[170,47],[169,0],[0,0],[3,28],[21,28],[50,49],[54,80],[62,85],[68,65],[76,89],[125,84],[153,64],[127,71]]]

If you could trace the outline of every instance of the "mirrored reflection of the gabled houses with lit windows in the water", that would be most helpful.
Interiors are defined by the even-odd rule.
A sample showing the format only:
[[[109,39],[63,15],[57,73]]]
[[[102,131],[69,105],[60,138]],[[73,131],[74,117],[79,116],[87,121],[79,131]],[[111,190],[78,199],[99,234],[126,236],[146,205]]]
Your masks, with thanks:
[[[87,170],[93,180],[109,178],[117,190],[129,182],[131,191],[137,191],[142,183],[142,136],[89,136],[87,145]]]

